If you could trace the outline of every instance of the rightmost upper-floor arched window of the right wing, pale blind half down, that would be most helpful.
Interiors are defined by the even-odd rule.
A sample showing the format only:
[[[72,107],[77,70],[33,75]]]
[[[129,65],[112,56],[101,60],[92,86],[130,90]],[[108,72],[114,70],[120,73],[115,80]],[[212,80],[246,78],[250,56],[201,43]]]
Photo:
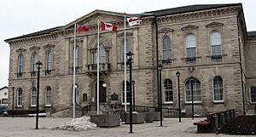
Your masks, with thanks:
[[[212,56],[221,55],[221,34],[218,31],[211,33]]]

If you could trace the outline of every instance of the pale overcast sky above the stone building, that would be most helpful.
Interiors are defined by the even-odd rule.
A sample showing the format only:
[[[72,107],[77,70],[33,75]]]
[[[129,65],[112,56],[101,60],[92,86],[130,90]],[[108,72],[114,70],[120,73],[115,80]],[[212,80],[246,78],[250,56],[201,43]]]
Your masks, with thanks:
[[[64,26],[95,9],[137,14],[212,3],[242,3],[247,31],[256,31],[253,0],[0,0],[0,88],[9,83],[9,44],[4,39]]]

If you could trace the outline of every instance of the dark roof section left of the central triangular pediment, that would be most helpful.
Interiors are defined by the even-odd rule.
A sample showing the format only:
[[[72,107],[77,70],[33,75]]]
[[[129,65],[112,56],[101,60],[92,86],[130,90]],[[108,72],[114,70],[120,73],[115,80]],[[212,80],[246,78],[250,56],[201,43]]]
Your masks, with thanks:
[[[30,33],[30,34],[22,35],[22,36],[19,36],[19,37],[9,38],[9,39],[6,39],[4,41],[7,42],[7,41],[18,39],[18,38],[33,37],[33,36],[38,36],[38,35],[49,34],[50,32],[53,32],[53,31],[60,31],[61,27],[62,26],[57,26],[57,27],[53,27],[53,28],[43,30],[43,31],[37,31],[37,32]]]

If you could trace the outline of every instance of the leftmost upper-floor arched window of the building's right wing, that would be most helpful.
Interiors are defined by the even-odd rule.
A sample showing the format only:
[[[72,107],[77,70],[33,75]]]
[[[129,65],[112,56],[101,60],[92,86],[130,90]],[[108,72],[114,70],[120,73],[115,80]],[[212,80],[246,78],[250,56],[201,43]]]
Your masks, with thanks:
[[[172,54],[170,37],[166,36],[163,38],[162,51],[163,51],[163,60],[170,60],[171,54]]]

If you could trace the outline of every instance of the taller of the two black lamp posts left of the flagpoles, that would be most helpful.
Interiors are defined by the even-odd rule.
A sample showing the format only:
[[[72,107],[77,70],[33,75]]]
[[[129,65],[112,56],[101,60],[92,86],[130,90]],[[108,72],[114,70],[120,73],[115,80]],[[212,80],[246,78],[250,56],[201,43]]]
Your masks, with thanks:
[[[38,67],[38,92],[37,92],[37,116],[36,116],[36,129],[38,129],[38,112],[39,112],[39,81],[40,81],[40,69],[43,66],[43,63],[41,61],[38,61],[36,63],[36,66]]]

